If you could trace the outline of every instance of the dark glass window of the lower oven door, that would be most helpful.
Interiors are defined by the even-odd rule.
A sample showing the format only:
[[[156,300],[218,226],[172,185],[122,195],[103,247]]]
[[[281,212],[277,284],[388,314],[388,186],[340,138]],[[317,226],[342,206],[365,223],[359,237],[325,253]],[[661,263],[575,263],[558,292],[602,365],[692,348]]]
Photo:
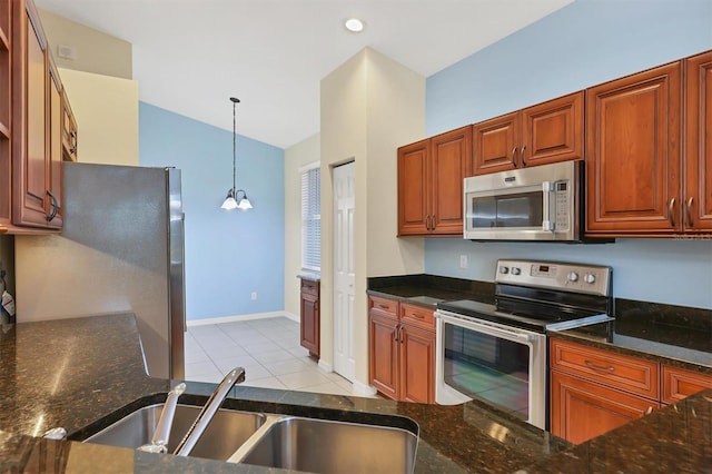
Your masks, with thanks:
[[[530,346],[452,324],[444,330],[445,384],[527,419]]]

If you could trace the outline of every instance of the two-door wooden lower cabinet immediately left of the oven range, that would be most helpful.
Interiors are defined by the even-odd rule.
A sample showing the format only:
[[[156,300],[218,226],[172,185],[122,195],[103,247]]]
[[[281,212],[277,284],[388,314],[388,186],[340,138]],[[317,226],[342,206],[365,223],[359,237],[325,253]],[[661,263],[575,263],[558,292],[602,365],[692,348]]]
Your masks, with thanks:
[[[428,310],[369,297],[368,382],[388,398],[435,403],[435,327],[418,319],[422,313]]]

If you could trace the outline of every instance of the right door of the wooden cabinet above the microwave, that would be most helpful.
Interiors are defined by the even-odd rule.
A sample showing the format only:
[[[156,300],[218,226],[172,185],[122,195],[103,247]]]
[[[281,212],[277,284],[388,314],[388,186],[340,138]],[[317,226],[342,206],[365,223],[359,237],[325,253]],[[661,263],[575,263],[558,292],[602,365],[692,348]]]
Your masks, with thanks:
[[[522,111],[522,166],[583,159],[584,93],[571,93]]]

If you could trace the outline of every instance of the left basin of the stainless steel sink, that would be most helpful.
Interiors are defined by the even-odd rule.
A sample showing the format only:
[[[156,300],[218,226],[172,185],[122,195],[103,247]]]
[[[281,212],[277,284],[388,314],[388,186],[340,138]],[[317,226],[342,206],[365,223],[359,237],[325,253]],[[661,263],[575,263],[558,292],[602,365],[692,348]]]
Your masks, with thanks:
[[[107,444],[137,448],[150,443],[164,404],[150,405],[137,409],[115,424],[85,440],[86,443]],[[178,405],[170,429],[168,452],[172,453],[200,413],[200,406]],[[226,461],[243,445],[266,421],[260,413],[219,409],[191,456]]]

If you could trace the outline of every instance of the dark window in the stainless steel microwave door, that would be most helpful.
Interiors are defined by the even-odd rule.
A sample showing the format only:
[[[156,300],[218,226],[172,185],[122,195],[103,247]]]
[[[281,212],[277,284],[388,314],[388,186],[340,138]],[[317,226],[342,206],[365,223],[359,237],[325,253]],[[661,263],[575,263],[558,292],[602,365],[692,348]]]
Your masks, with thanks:
[[[471,199],[469,217],[474,229],[542,227],[542,190]]]

